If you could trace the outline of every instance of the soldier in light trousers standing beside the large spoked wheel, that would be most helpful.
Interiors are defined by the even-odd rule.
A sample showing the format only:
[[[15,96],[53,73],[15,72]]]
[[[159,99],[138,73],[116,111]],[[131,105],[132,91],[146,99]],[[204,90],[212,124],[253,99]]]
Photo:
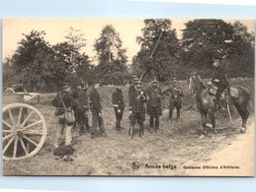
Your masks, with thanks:
[[[62,91],[51,101],[51,104],[56,107],[55,115],[58,120],[54,148],[58,148],[60,144],[59,140],[63,133],[65,137],[65,146],[71,145],[73,124],[68,124],[65,122],[65,110],[74,109],[74,107],[76,106],[76,102],[74,98],[70,96],[70,91],[70,83],[68,81],[63,82]]]

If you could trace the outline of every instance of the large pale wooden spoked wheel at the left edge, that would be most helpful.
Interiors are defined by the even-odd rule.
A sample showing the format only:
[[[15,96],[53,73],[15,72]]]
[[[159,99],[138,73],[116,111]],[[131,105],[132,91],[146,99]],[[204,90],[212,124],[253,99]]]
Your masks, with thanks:
[[[15,102],[3,107],[3,160],[35,156],[43,147],[47,130],[43,114],[34,106]]]

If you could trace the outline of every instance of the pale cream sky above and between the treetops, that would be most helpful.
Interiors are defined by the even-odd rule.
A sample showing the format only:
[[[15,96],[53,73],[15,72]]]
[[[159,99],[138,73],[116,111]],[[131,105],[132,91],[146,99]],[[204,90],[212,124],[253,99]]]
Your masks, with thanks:
[[[172,26],[176,29],[178,38],[182,37],[182,30],[188,19],[171,20]],[[228,23],[234,23],[234,20],[225,20]],[[253,20],[239,20],[248,28],[248,32],[254,32]],[[100,37],[100,32],[106,25],[112,25],[116,32],[120,33],[123,40],[123,47],[127,48],[128,62],[139,50],[136,43],[136,36],[141,35],[141,29],[144,27],[143,20],[130,19],[11,19],[3,20],[3,59],[12,56],[18,47],[18,42],[23,38],[23,33],[29,33],[33,30],[44,31],[44,39],[51,45],[64,41],[64,35],[69,28],[80,30],[84,33],[86,47],[84,51],[93,60],[95,51],[93,44],[95,39]]]

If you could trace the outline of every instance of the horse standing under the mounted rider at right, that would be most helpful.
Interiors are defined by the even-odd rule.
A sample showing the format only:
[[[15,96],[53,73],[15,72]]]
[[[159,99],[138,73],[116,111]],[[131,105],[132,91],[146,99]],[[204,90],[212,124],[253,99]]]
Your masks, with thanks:
[[[250,115],[249,107],[250,103],[252,103],[252,97],[248,89],[242,86],[237,86],[235,88],[232,87],[231,89],[238,91],[237,96],[230,96],[229,99],[231,101],[230,103],[234,104],[236,110],[242,118],[242,127],[240,128],[240,133],[245,133],[246,122]],[[216,134],[214,112],[218,110],[218,107],[214,101],[215,96],[209,93],[208,87],[204,85],[199,75],[190,76],[189,92],[191,91],[196,95],[196,103],[202,117],[204,134],[207,134],[208,114],[213,126],[213,132]]]

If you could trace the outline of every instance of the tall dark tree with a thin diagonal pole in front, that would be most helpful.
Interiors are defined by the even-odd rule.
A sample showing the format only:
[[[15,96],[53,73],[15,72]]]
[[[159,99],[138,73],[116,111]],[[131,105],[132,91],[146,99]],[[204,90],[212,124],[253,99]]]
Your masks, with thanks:
[[[177,75],[179,44],[170,20],[144,20],[142,36],[137,37],[140,50],[132,59],[136,71],[147,73],[149,79],[157,76],[160,81]]]

